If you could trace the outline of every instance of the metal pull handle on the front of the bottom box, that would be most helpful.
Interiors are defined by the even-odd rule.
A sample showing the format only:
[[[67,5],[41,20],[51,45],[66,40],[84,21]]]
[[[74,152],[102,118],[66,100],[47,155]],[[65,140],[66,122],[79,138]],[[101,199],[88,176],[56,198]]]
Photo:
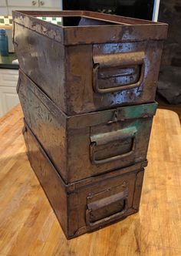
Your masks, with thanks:
[[[110,197],[102,198],[100,200],[87,204],[87,210],[86,210],[87,226],[89,227],[100,226],[101,224],[107,224],[110,221],[116,221],[117,219],[122,217],[123,214],[125,214],[128,209],[127,197],[128,197],[128,190],[126,189],[118,194],[114,194]],[[119,202],[119,200],[124,200],[124,207],[122,211],[112,214],[108,217],[104,217],[98,221],[91,222],[91,214],[93,213],[93,211],[99,210],[102,207],[107,207],[110,204],[113,204],[115,202]]]

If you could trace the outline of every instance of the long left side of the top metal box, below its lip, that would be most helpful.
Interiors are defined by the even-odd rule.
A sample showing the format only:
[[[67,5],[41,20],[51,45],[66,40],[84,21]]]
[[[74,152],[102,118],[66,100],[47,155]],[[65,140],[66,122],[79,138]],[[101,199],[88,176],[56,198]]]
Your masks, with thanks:
[[[14,45],[23,72],[66,112],[64,46],[17,23]]]

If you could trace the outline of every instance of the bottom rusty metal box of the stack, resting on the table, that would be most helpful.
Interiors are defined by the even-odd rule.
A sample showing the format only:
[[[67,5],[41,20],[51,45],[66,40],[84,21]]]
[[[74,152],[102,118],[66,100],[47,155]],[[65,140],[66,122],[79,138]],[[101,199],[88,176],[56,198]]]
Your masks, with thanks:
[[[24,136],[31,167],[67,238],[94,231],[139,210],[146,162],[64,184],[28,126]],[[86,171],[86,165],[84,168]]]

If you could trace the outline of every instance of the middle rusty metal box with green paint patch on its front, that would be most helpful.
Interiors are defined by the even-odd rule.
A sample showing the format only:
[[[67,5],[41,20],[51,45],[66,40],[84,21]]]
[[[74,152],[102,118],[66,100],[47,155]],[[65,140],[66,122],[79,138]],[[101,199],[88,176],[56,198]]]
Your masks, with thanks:
[[[146,160],[156,103],[67,116],[21,71],[17,90],[26,123],[66,184]]]

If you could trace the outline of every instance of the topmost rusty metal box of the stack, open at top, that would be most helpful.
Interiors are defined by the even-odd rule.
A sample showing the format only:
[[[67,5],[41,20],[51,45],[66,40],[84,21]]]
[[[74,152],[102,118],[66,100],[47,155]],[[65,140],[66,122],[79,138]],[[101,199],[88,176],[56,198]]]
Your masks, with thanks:
[[[63,25],[37,19],[44,15]],[[81,11],[15,11],[13,19],[20,68],[67,115],[155,99],[166,24]]]

